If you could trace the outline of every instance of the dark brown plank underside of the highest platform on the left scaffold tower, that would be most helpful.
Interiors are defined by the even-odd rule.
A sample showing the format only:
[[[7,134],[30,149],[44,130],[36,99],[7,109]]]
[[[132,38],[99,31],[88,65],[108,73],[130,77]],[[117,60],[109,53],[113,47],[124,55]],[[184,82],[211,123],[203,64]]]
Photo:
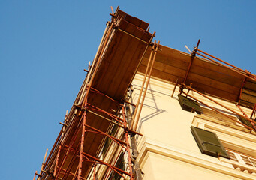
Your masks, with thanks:
[[[129,26],[129,24],[126,25],[127,27],[125,27],[125,30],[130,31],[131,33],[137,31],[136,27]],[[104,57],[106,58],[106,60],[103,60],[99,68],[101,74],[95,76],[95,83],[93,86],[95,86],[95,88],[100,90],[101,92],[107,93],[107,95],[110,95],[111,97],[117,98],[118,96],[119,98],[122,98],[121,95],[124,95],[124,93],[121,93],[122,91],[120,90],[120,88],[126,90],[128,85],[125,85],[125,87],[119,87],[120,95],[114,95],[113,89],[116,89],[113,86],[114,84],[111,82],[116,82],[116,85],[119,85],[120,80],[125,80],[122,78],[123,75],[120,77],[119,74],[124,74],[125,71],[129,72],[129,69],[133,71],[131,71],[131,74],[127,74],[126,72],[125,77],[127,78],[127,83],[131,82],[131,80],[128,79],[130,79],[134,74],[134,69],[137,68],[139,62],[137,59],[132,60],[132,58],[130,58],[129,55],[132,56],[134,53],[136,54],[137,52],[140,52],[142,55],[143,52],[141,52],[140,50],[138,51],[138,49],[143,48],[144,50],[146,48],[146,44],[140,43],[140,40],[137,40],[134,37],[131,37],[128,34],[123,33],[122,31],[117,31],[116,34],[119,34],[119,37],[122,37],[122,40],[116,40],[115,37],[113,37],[113,41],[116,42],[116,44],[113,46],[113,49],[112,46],[110,46],[107,50]],[[139,38],[142,36],[143,34],[137,34],[137,37]],[[139,48],[137,44],[140,44],[140,46],[143,47]],[[119,46],[121,46],[122,48],[115,49],[115,47],[118,48]],[[110,87],[112,88],[110,89]],[[110,91],[107,91],[107,89]]]

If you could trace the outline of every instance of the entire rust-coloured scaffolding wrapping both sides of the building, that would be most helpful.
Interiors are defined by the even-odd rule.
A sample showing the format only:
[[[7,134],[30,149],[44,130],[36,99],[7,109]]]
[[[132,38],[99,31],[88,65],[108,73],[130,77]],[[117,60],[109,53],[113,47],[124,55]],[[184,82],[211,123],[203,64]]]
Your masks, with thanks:
[[[175,83],[172,97],[176,86],[179,86],[181,94],[185,94],[218,113],[221,112],[189,94],[189,91],[196,92],[222,107],[224,107],[222,104],[206,94],[237,102],[236,105],[242,115],[228,107],[224,108],[245,118],[252,127],[240,121],[236,121],[237,123],[256,131],[254,120],[256,97],[248,100],[248,96],[253,96],[253,94],[245,93],[246,87],[251,86],[249,84],[251,82],[255,84],[253,89],[256,91],[254,74],[236,68],[198,49],[200,40],[191,54],[185,54],[161,46],[159,41],[152,43],[155,32],[149,33],[149,24],[131,17],[119,10],[119,7],[116,12],[112,9],[110,15],[111,22],[107,23],[92,65],[85,70],[86,79],[70,112],[66,113],[64,122],[60,123],[62,130],[48,157],[46,152],[41,171],[35,172],[34,180],[35,178],[37,180],[110,180],[116,178],[140,180],[141,170],[136,160],[138,151],[134,136],[142,136],[137,132],[137,124],[151,76]],[[157,54],[158,58],[156,58]],[[202,56],[203,59],[196,55]],[[167,57],[172,61],[167,62]],[[167,64],[170,69],[168,71],[163,66]],[[230,80],[237,80],[237,84],[241,83],[241,86],[236,87],[234,95],[227,92],[229,85],[223,90],[223,95],[221,91],[215,92],[215,89],[201,83],[204,79],[200,65],[209,65],[212,69],[217,66],[224,67],[225,71],[227,69],[225,74],[230,77]],[[191,76],[195,74],[195,71],[200,71],[201,74]],[[220,74],[222,71],[221,69]],[[137,72],[142,72],[144,78],[137,104],[131,104],[126,95],[131,89],[131,81]],[[200,80],[197,80],[198,76]],[[201,82],[198,83],[198,81]],[[224,84],[218,77],[214,81]],[[184,89],[188,89],[188,92]],[[133,115],[130,113],[129,106],[134,107]],[[244,113],[240,106],[250,107],[251,115]],[[225,116],[230,118],[228,115]],[[113,154],[107,156],[107,151]],[[125,157],[124,162],[122,162],[123,157]]]

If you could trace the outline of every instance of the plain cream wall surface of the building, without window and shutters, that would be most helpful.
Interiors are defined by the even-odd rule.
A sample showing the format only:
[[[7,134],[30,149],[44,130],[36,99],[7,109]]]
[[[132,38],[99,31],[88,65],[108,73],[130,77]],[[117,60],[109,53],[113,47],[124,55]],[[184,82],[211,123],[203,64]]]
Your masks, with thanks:
[[[131,96],[131,101],[134,104],[137,102],[142,80],[143,77],[138,74],[134,78],[134,92]],[[201,154],[190,127],[192,124],[198,126],[203,122],[197,123],[198,121],[194,120],[196,113],[182,110],[177,98],[179,87],[177,87],[173,98],[170,97],[173,87],[170,83],[155,79],[151,79],[149,83],[137,128],[140,133],[143,133],[143,137],[137,139],[140,151],[138,160],[145,173],[143,179],[256,179],[256,176],[251,173],[239,172],[234,169],[229,160]],[[200,99],[211,106],[224,110],[221,106],[206,99]],[[234,104],[218,101],[239,112]],[[251,112],[245,108],[244,110],[248,114]],[[244,136],[242,139],[239,138],[239,142],[242,145],[247,145],[248,147],[245,148],[254,153],[253,149],[256,148],[254,134],[248,134],[248,130],[240,132],[231,128],[228,129],[230,134],[226,134],[226,132],[218,132],[217,127],[221,130],[228,127],[217,124],[215,128],[211,129],[217,135],[219,134],[227,145],[228,141],[236,142],[235,138],[238,137],[233,137],[232,133],[239,132],[241,133],[239,136]],[[203,124],[203,128],[209,128],[209,124],[205,127]],[[239,145],[236,146],[239,147]],[[256,154],[254,156],[256,157]]]

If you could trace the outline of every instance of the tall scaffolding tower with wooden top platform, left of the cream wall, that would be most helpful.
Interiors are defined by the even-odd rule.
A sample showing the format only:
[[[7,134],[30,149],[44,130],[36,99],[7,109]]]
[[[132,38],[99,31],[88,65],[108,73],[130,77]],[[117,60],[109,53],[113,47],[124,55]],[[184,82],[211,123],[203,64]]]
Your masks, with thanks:
[[[125,101],[125,95],[146,50],[152,47],[155,51],[157,45],[152,43],[155,33],[149,33],[148,23],[131,17],[119,7],[116,12],[112,9],[110,15],[111,22],[107,23],[92,66],[84,70],[86,79],[71,111],[60,122],[62,130],[48,157],[45,154],[41,171],[35,172],[34,180],[37,175],[37,180],[117,177],[132,180],[141,176],[131,154],[136,143],[131,145],[129,136],[142,134],[128,125],[125,104],[131,103]],[[129,119],[131,123],[131,115]],[[108,148],[114,154],[107,158]],[[127,157],[125,162],[123,157]]]

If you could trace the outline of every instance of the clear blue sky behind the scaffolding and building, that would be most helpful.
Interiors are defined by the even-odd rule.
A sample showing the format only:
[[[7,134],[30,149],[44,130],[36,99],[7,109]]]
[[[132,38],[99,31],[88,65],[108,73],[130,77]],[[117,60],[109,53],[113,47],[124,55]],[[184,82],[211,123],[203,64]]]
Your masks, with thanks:
[[[256,74],[256,1],[0,0],[0,174],[32,179],[52,148],[117,6],[155,40],[200,49]]]

